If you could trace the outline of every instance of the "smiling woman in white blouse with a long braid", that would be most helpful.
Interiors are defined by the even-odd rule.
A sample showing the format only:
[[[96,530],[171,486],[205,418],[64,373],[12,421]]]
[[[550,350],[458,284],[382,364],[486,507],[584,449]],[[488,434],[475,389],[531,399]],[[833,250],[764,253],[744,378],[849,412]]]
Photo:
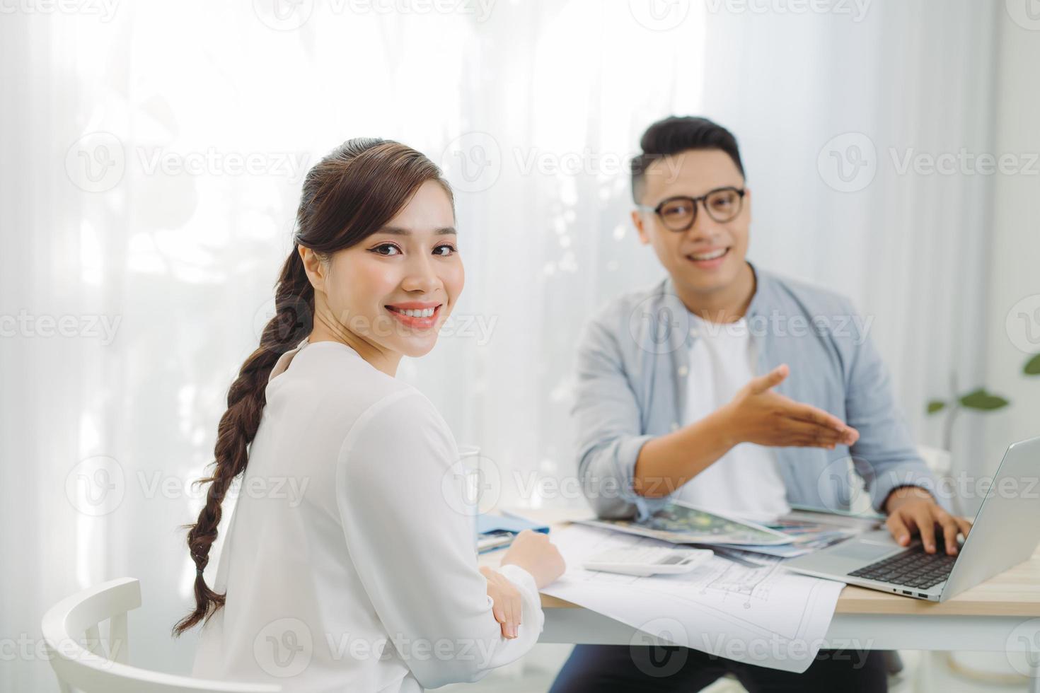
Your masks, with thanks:
[[[418,152],[352,139],[307,175],[277,314],[228,394],[190,526],[204,622],[193,675],[289,691],[475,681],[542,630],[563,559],[519,535],[476,565],[456,443],[402,355],[437,341],[463,288],[450,188]],[[242,476],[210,589],[220,501]],[[296,494],[287,489],[296,489]]]

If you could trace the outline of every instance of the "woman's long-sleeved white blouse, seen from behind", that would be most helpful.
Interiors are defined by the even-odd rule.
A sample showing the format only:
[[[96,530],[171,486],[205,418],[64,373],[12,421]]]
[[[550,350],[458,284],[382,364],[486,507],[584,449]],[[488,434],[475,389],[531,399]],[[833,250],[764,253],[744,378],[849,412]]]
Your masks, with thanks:
[[[535,645],[545,617],[529,572],[499,568],[523,595],[519,637],[492,614],[456,442],[428,399],[344,344],[307,340],[266,397],[210,583],[227,604],[192,675],[412,692],[476,681]]]

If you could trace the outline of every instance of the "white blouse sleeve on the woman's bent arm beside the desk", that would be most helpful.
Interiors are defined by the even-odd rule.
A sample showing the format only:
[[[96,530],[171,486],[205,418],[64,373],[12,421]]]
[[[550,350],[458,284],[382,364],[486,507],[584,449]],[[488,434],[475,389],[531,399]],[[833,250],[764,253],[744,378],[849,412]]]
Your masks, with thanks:
[[[424,688],[477,681],[519,659],[545,622],[534,578],[503,566],[523,609],[518,637],[502,637],[477,569],[473,521],[451,476],[457,460],[443,419],[407,390],[358,419],[336,471],[350,559],[391,643]]]

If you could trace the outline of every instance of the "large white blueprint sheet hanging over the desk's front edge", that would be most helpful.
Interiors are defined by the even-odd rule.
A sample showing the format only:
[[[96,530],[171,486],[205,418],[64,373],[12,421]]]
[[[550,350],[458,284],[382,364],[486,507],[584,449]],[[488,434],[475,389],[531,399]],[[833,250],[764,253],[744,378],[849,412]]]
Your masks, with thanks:
[[[800,576],[778,559],[747,567],[719,556],[691,572],[638,578],[586,570],[587,557],[656,539],[571,525],[552,533],[567,572],[542,592],[572,602],[677,645],[726,659],[802,672],[830,625],[842,583]],[[632,644],[650,644],[636,636]]]

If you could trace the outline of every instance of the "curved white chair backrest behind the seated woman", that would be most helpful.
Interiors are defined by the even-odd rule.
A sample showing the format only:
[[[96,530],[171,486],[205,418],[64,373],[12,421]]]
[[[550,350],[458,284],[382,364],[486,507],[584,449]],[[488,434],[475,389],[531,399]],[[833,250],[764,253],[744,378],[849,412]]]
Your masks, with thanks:
[[[44,643],[61,693],[280,693],[281,686],[235,684],[129,665],[127,612],[140,606],[140,582],[120,578],[77,592],[44,616]],[[99,625],[108,620],[108,637]]]

